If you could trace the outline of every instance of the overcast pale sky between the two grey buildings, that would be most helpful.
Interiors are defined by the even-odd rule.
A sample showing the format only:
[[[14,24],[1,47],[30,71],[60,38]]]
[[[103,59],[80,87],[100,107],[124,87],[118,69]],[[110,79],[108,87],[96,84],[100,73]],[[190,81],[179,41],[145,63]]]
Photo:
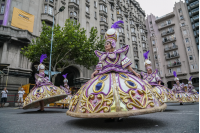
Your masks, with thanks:
[[[146,15],[151,13],[155,16],[163,16],[173,11],[175,2],[180,0],[137,0],[140,3],[140,7],[145,10]],[[182,0],[185,2],[185,0]]]

